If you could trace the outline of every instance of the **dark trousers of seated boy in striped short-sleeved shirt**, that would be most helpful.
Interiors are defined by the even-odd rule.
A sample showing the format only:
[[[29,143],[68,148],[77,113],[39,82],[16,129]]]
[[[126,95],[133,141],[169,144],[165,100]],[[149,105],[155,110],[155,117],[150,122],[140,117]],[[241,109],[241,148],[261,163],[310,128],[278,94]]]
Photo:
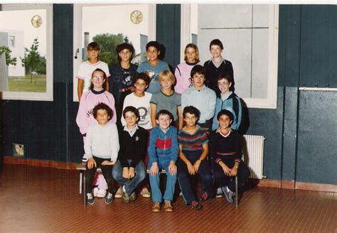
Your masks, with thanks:
[[[200,158],[202,150],[199,151],[183,151],[183,154],[186,156],[188,161],[192,163],[196,163],[196,161]],[[186,204],[190,204],[193,200],[198,200],[196,198],[196,194],[193,193],[193,189],[191,187],[190,178],[191,175],[188,173],[187,165],[181,159],[177,162],[178,169],[178,181],[181,188],[181,192],[183,193],[183,199]],[[203,160],[200,163],[198,168],[198,175],[201,180],[201,188],[203,193],[207,193],[208,197],[214,197],[214,188],[213,188],[213,178],[212,173],[210,172],[210,163],[207,159]]]

